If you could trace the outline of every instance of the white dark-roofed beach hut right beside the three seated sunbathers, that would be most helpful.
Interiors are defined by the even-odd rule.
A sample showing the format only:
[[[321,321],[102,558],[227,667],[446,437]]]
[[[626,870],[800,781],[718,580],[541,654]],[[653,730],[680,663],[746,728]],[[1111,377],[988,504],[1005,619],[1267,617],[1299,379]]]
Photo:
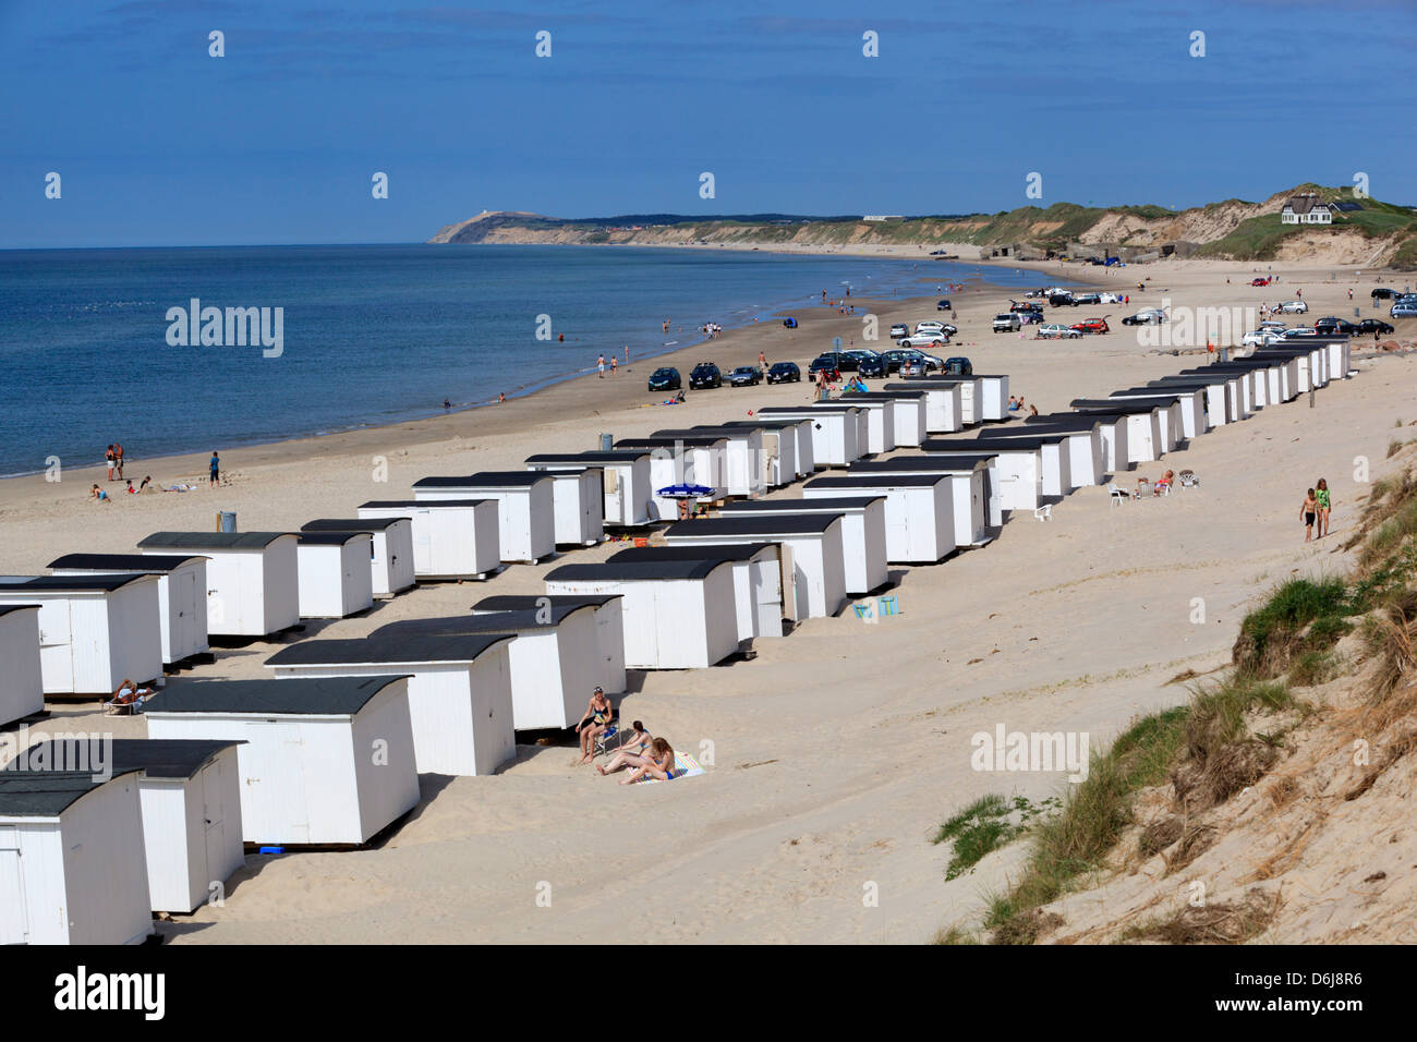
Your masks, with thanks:
[[[599,676],[601,651],[594,604],[546,605],[452,618],[415,618],[380,627],[371,639],[397,642],[469,634],[478,637],[510,634],[513,638],[507,644],[513,730],[530,732],[547,727],[563,730],[580,722],[585,712],[585,700]],[[473,679],[476,680],[476,675]],[[599,683],[608,695],[618,695],[625,690],[623,671],[619,680],[618,688],[605,688],[604,682]],[[411,703],[418,700],[417,686],[415,676],[408,682]],[[415,744],[418,730],[415,712]]]

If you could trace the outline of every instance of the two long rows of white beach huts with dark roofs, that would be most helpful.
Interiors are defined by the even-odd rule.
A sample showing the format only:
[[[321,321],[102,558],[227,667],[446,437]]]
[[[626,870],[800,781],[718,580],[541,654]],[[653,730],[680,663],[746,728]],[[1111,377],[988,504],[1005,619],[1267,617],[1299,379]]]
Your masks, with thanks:
[[[606,527],[665,526],[663,546],[551,568],[544,595],[289,644],[271,679],[167,680],[147,739],[26,750],[0,771],[0,944],[142,940],[153,912],[221,893],[248,845],[364,844],[417,805],[419,774],[496,771],[517,732],[574,726],[595,685],[614,698],[626,671],[707,668],[837,615],[890,566],[982,546],[1010,516],[1349,373],[1348,340],[1314,337],[1000,425],[1006,376],[910,379],[429,476],[412,499],[299,532],[159,532],[0,577],[4,727],[45,699],[156,680],[214,637],[273,637]],[[801,498],[764,498],[798,482]],[[718,509],[677,520],[676,488]]]

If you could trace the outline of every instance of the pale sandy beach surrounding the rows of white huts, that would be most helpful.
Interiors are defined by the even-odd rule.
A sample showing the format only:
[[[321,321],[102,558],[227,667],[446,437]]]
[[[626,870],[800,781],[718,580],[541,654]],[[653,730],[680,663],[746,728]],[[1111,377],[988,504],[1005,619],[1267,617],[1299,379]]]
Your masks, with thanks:
[[[951,296],[959,335],[947,353],[968,356],[979,373],[1009,373],[1010,393],[1040,413],[1200,364],[1203,349],[1158,352],[1121,326],[1124,315],[1163,298],[1172,306],[1246,308],[1302,288],[1311,312],[1287,316],[1291,325],[1350,318],[1355,306],[1386,318],[1369,303],[1374,274],[1355,268],[1032,267],[1036,285],[1090,282],[1131,302],[1049,309],[1050,322],[1110,315],[1114,332],[1105,336],[1041,342],[1029,327],[993,335],[989,320],[1007,309],[1007,291],[971,284],[937,293],[922,262],[918,298],[853,299],[856,316],[812,305],[796,313],[795,330],[730,330],[672,356],[632,359],[614,377],[591,374],[496,407],[244,449],[211,445],[170,459],[142,459],[135,444],[126,471],[135,483],[149,474],[159,486],[201,476],[210,449],[220,449],[231,485],[128,496],[115,482],[103,485],[113,503],[92,503],[86,489],[103,483],[96,466],[65,466],[60,482],[0,482],[0,573],[43,574],[64,553],[130,551],[156,530],[211,529],[218,510],[237,512],[244,530],[298,529],[313,517],[351,516],[368,499],[402,498],[427,475],[521,469],[534,452],[597,448],[602,432],[629,438],[806,401],[803,381],[690,391],[687,403],[669,407],[659,404],[666,396],[645,390],[645,379],[659,364],[687,377],[699,359],[727,369],[755,362],[760,350],[805,373],[832,337],[863,343],[863,308],[881,335],[866,346],[884,349],[891,322],[935,318],[937,296]],[[1247,285],[1270,268],[1282,284]],[[1139,281],[1146,289],[1136,289]],[[1410,347],[1410,323],[1396,325],[1399,343]],[[1102,488],[1078,489],[1054,508],[1053,523],[1016,517],[986,547],[935,567],[894,568],[898,617],[876,625],[850,612],[811,620],[785,639],[760,641],[754,661],[635,673],[622,713],[700,757],[703,777],[621,787],[574,767],[570,747],[521,746],[495,777],[425,775],[424,801],[377,848],[248,856],[222,907],[160,930],[177,943],[565,943],[632,940],[653,923],[670,941],[928,941],[1002,889],[1022,856],[1009,848],[945,882],[948,848],[930,842],[938,824],[986,792],[1037,802],[1066,785],[1057,773],[972,770],[975,732],[1003,723],[1105,741],[1134,715],[1185,702],[1186,688],[1168,683],[1176,673],[1229,662],[1246,607],[1274,583],[1343,567],[1338,544],[1365,495],[1355,458],[1367,456],[1372,476],[1382,476],[1389,441],[1403,437],[1394,425],[1417,421],[1413,356],[1370,349],[1355,340],[1357,376],[1321,391],[1312,408],[1302,397],[1265,408],[1118,476],[1132,483],[1190,468],[1199,489],[1124,508]],[[591,366],[594,356],[571,364]],[[1321,476],[1333,489],[1333,536],[1304,546],[1295,513]],[[799,489],[775,495],[795,498]],[[461,614],[489,594],[540,593],[551,567],[616,549],[512,566],[486,583],[421,586],[357,618],[309,622],[290,639],[361,637],[395,620]],[[1203,624],[1192,622],[1196,597],[1206,603]],[[265,676],[262,662],[278,646],[221,649],[188,675]],[[50,730],[143,734],[142,717],[103,717],[92,705],[51,709]],[[546,885],[550,906],[537,902]]]

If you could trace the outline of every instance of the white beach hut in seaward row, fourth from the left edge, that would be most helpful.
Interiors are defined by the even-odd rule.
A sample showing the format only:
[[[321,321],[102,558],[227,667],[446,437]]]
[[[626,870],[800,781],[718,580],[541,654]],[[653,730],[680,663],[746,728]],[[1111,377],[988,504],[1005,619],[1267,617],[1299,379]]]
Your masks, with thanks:
[[[268,637],[300,621],[298,542],[290,532],[154,532],[137,549],[207,559],[208,637]]]

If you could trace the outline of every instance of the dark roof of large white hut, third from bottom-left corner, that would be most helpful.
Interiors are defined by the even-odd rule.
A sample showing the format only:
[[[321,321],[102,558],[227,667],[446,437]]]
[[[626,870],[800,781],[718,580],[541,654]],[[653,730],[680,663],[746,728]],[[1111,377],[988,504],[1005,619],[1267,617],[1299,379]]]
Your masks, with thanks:
[[[295,645],[299,646],[299,645]],[[169,680],[143,712],[162,713],[289,713],[353,716],[384,688],[405,679],[391,676],[322,676],[289,680]]]

